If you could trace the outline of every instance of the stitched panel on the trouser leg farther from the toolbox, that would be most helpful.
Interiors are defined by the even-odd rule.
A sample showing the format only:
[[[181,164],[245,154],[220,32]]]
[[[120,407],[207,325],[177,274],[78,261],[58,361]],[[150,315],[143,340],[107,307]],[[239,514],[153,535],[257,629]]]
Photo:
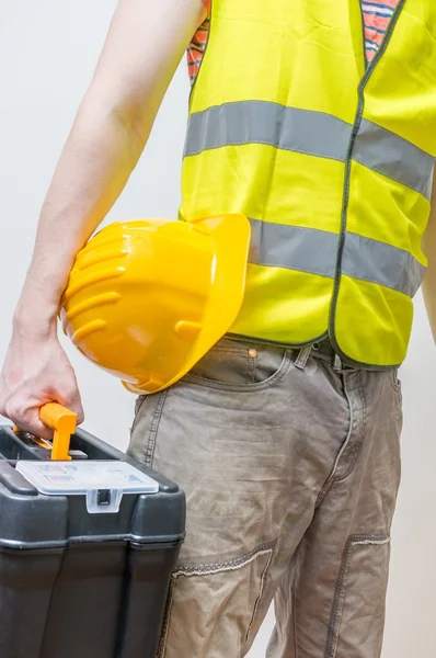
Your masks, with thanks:
[[[324,658],[379,658],[389,577],[389,535],[352,535],[342,557]]]

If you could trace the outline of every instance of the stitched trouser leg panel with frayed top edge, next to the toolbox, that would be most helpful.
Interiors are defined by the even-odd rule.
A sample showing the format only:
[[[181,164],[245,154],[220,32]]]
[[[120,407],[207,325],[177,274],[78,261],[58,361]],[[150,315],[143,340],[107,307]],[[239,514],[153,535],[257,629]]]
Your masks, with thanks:
[[[245,655],[276,541],[242,557],[180,565],[157,658]]]

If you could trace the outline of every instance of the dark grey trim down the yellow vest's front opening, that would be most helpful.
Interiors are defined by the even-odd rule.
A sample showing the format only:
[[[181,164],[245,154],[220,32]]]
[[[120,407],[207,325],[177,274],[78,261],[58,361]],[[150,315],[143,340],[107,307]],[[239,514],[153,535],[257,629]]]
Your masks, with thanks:
[[[359,1],[359,0],[357,0],[357,1]],[[360,368],[366,367],[368,370],[386,370],[387,367],[389,367],[389,368],[398,367],[399,364],[397,366],[395,365],[376,366],[376,365],[368,365],[365,363],[359,363],[358,361],[354,361],[353,359],[349,359],[346,354],[344,354],[344,352],[341,350],[341,348],[339,347],[337,341],[336,341],[335,319],[336,319],[336,310],[337,310],[337,299],[339,299],[340,287],[341,287],[342,259],[343,259],[343,253],[344,253],[346,224],[347,224],[347,214],[348,214],[349,174],[351,174],[351,169],[352,169],[352,156],[353,156],[353,151],[354,151],[354,146],[356,143],[356,137],[360,129],[362,118],[363,118],[364,109],[365,109],[365,87],[368,83],[368,81],[374,72],[374,69],[376,68],[377,64],[380,61],[382,55],[385,54],[385,52],[388,47],[388,44],[391,39],[393,30],[395,29],[395,25],[398,23],[398,20],[400,18],[401,11],[402,11],[405,2],[406,2],[406,0],[400,0],[400,2],[398,3],[398,5],[392,14],[391,22],[389,23],[385,38],[383,38],[377,54],[375,55],[372,61],[370,61],[369,65],[367,66],[366,72],[365,72],[364,77],[362,78],[359,86],[358,86],[357,111],[356,111],[356,116],[355,116],[354,126],[353,126],[353,131],[352,131],[352,136],[349,139],[348,150],[347,150],[347,155],[346,155],[344,198],[343,198],[342,217],[341,217],[341,234],[340,234],[339,246],[337,246],[337,259],[336,259],[336,269],[335,269],[335,277],[334,277],[333,297],[332,297],[332,303],[331,303],[331,307],[330,307],[329,338],[332,343],[332,347],[334,348],[336,353],[341,356],[341,359],[345,363],[347,363],[349,365],[354,365],[356,367],[360,367]],[[364,26],[364,54],[365,54],[365,26]],[[365,55],[365,60],[366,60],[366,55]]]

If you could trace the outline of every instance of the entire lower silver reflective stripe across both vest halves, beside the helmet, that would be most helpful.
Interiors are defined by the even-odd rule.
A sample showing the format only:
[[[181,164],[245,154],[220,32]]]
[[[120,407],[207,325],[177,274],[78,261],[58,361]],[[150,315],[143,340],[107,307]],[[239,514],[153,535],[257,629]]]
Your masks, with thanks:
[[[339,236],[329,231],[250,219],[253,264],[334,279]],[[413,297],[425,268],[408,251],[356,234],[345,234],[341,271]]]

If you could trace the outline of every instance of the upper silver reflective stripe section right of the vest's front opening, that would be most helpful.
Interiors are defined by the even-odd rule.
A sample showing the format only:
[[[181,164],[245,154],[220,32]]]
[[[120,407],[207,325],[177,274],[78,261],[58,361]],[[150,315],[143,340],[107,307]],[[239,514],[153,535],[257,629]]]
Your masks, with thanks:
[[[356,137],[353,160],[416,190],[427,198],[432,195],[434,158],[411,141],[365,118]]]

